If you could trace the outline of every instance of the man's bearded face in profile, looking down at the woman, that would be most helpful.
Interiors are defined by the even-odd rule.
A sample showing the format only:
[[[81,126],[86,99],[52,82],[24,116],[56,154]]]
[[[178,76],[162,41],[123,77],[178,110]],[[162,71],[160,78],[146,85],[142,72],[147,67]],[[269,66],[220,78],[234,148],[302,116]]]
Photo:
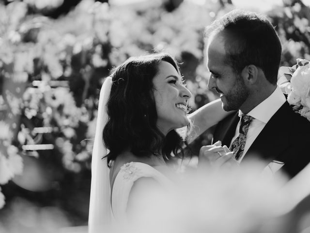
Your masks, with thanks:
[[[248,88],[241,75],[236,74],[233,67],[225,63],[226,51],[224,42],[215,37],[207,48],[207,67],[211,72],[208,87],[214,88],[222,100],[225,111],[238,110],[248,99]]]

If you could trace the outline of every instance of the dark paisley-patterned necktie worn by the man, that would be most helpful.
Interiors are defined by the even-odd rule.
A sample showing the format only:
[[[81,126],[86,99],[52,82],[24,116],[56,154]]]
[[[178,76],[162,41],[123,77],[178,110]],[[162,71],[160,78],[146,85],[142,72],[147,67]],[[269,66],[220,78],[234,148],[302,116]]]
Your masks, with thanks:
[[[245,114],[242,114],[241,116],[239,136],[233,140],[233,143],[229,148],[229,150],[233,151],[236,160],[239,160],[243,154],[247,140],[248,127],[253,119],[254,117]]]

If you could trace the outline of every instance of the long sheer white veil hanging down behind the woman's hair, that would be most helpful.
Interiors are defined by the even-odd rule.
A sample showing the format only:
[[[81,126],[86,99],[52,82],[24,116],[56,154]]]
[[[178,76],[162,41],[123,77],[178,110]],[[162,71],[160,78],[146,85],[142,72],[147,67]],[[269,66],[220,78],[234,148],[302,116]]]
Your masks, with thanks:
[[[88,219],[88,232],[107,232],[112,222],[108,150],[102,139],[102,132],[107,123],[108,115],[106,111],[112,86],[112,78],[106,78],[100,90],[96,132],[93,144],[92,155],[92,183]]]

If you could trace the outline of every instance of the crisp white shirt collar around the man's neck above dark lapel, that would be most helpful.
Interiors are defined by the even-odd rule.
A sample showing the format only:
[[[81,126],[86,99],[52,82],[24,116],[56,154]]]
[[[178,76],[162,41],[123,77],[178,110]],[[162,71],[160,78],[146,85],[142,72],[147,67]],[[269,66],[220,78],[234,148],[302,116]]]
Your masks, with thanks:
[[[279,86],[277,86],[267,99],[263,100],[263,102],[253,108],[247,115],[267,124],[270,118],[278,111],[285,101],[285,96]],[[241,117],[242,114],[241,110],[239,110],[238,115]]]

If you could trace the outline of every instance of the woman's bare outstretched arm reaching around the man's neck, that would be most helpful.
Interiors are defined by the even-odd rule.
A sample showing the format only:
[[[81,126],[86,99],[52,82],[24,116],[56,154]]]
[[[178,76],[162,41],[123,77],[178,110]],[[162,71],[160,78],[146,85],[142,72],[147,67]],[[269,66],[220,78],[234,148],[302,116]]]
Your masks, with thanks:
[[[216,125],[230,113],[223,110],[220,99],[207,103],[191,113],[188,118],[192,122],[192,130],[187,136],[187,143],[193,142],[203,132]]]

